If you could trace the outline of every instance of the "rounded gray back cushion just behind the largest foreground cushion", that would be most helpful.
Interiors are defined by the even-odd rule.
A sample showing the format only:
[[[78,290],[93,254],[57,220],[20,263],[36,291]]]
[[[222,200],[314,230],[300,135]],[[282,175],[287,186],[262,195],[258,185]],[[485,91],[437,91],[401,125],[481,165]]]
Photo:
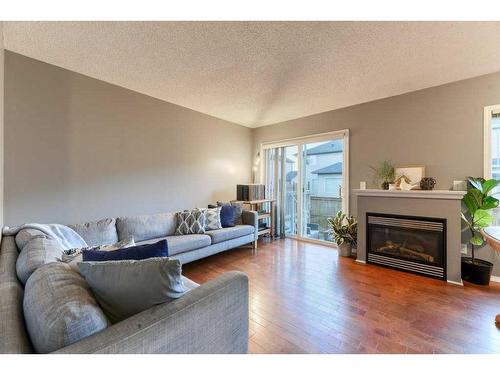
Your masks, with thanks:
[[[62,256],[59,242],[46,237],[32,238],[19,253],[16,261],[16,271],[19,280],[26,284],[28,278],[37,268],[44,264],[57,262]]]

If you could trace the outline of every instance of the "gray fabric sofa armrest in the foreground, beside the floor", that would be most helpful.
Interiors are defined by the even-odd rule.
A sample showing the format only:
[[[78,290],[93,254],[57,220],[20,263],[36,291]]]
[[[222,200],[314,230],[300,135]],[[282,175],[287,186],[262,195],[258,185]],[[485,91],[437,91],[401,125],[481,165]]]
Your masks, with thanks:
[[[55,353],[246,353],[248,277],[227,272]]]

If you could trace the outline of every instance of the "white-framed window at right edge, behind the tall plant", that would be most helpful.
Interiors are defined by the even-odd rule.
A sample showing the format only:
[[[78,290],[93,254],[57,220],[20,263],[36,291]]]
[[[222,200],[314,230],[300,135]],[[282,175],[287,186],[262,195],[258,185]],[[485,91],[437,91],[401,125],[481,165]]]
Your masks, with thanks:
[[[500,179],[500,105],[484,108],[484,171],[486,179]],[[500,189],[493,195],[500,199]],[[500,208],[493,210],[494,225],[500,225]]]

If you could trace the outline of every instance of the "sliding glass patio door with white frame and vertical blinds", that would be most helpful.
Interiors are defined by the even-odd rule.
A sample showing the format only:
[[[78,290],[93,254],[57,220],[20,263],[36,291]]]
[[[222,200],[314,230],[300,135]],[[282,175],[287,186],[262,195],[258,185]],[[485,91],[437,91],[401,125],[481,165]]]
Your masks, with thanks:
[[[328,218],[348,212],[348,137],[345,130],[262,145],[278,234],[332,241]]]

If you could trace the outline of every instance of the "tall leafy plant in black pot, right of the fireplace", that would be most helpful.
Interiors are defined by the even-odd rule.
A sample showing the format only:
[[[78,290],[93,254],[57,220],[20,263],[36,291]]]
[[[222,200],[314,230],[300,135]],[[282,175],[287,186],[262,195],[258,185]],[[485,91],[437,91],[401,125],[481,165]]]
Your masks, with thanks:
[[[476,246],[484,243],[480,231],[491,225],[493,216],[490,210],[498,207],[498,199],[490,195],[491,191],[500,184],[499,180],[484,180],[482,178],[468,178],[470,187],[462,198],[467,208],[462,212],[462,220],[466,224],[465,230],[470,232],[471,257],[462,257],[462,279],[474,284],[488,285],[490,283],[493,264],[477,259],[474,254]]]

